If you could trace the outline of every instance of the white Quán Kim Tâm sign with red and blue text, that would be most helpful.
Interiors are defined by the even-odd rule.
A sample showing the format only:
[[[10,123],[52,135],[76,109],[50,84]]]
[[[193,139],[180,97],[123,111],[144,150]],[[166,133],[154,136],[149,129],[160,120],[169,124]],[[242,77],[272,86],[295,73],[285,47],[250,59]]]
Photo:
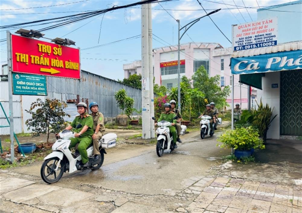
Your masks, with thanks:
[[[234,51],[277,45],[276,18],[233,25]]]

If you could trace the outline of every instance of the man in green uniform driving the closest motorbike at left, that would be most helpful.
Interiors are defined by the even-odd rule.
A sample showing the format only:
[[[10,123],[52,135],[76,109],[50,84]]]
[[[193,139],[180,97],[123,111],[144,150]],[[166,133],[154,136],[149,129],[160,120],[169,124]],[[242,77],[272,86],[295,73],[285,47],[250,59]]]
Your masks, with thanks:
[[[81,124],[82,127],[75,129],[75,137],[70,139],[71,143],[69,148],[75,147],[76,144],[79,143],[78,150],[82,157],[81,166],[88,167],[88,155],[86,149],[92,142],[91,136],[93,135],[93,120],[86,112],[87,105],[84,102],[79,102],[77,108],[80,115],[76,116],[66,129],[71,130],[72,128],[76,128],[78,124]]]

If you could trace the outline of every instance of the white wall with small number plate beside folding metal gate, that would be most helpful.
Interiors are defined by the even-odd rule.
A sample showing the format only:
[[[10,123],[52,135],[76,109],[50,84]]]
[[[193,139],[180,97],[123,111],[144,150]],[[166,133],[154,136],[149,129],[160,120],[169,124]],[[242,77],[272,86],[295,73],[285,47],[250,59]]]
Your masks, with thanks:
[[[278,84],[278,88],[271,88],[272,84]],[[265,73],[262,77],[262,90],[257,90],[257,102],[262,103],[274,108],[273,115],[277,117],[271,123],[267,132],[267,138],[279,139],[280,138],[280,72]]]

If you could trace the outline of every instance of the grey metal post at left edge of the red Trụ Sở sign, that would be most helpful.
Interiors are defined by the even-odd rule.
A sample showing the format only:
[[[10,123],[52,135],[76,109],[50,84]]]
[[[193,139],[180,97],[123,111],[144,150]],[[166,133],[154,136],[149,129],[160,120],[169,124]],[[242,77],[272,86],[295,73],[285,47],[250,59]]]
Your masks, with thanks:
[[[9,128],[11,139],[11,163],[14,162],[14,108],[13,108],[13,85],[12,85],[12,56],[11,56],[11,33],[6,31],[7,39],[7,66],[8,66],[8,99],[9,99]]]

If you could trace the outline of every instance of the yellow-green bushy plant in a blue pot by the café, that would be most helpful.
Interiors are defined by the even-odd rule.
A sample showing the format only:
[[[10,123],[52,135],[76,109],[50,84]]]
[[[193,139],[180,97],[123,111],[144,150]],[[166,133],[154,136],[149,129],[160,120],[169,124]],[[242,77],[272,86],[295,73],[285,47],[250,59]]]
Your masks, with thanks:
[[[255,149],[264,149],[263,140],[259,139],[257,129],[252,127],[229,130],[220,135],[221,148],[233,148],[237,158],[250,157]]]

